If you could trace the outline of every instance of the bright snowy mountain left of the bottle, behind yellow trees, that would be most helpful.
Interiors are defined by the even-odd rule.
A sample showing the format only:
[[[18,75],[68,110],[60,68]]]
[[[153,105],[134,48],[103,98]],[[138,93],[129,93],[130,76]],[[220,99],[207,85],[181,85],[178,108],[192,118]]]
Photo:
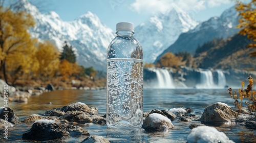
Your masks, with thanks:
[[[53,11],[42,14],[27,0],[20,3],[36,21],[35,27],[30,30],[33,37],[54,42],[60,51],[64,42],[68,41],[76,51],[79,65],[106,70],[106,49],[115,35],[97,15],[87,12],[73,21],[62,21]]]

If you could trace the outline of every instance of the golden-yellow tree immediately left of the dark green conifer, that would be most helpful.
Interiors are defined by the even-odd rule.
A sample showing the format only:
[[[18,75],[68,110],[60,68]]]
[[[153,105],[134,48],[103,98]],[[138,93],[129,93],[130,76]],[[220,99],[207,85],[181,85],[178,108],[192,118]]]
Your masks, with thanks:
[[[57,47],[50,41],[39,43],[38,50],[35,54],[39,67],[36,72],[37,76],[43,81],[55,76],[59,69],[59,52]]]

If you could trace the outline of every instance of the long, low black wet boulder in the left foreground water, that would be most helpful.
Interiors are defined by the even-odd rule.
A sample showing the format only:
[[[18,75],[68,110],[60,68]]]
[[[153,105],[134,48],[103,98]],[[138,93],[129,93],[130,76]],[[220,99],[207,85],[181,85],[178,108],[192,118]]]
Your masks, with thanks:
[[[27,140],[51,140],[80,135],[89,136],[90,134],[78,126],[56,123],[52,120],[38,120],[34,122],[30,130],[23,134],[22,138]]]

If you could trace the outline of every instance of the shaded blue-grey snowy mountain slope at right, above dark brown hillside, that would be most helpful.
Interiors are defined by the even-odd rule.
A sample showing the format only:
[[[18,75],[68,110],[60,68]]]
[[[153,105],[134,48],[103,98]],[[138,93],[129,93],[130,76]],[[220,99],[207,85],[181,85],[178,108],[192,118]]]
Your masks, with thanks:
[[[211,17],[209,20],[201,22],[195,29],[181,34],[175,43],[157,57],[156,61],[167,52],[187,51],[194,54],[198,45],[202,45],[214,38],[225,39],[233,36],[239,31],[236,28],[239,23],[238,19],[238,12],[234,7],[231,7],[225,10],[220,17]]]

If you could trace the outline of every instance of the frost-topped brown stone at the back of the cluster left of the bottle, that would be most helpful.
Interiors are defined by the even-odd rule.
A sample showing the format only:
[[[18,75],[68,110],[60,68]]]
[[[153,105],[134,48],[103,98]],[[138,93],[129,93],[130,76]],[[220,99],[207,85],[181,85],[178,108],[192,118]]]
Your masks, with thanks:
[[[81,102],[77,102],[77,103],[73,103],[73,104],[69,104],[66,106],[63,106],[61,108],[61,111],[63,112],[67,112],[67,111],[84,111],[84,112],[91,112],[91,109],[84,103]]]

